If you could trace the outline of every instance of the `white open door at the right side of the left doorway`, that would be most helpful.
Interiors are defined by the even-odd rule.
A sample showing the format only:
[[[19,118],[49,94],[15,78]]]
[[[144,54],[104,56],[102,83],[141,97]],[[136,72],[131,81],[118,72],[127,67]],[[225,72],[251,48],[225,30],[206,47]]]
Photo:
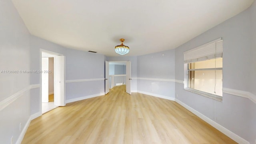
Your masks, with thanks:
[[[54,57],[54,105],[66,105],[65,56]]]

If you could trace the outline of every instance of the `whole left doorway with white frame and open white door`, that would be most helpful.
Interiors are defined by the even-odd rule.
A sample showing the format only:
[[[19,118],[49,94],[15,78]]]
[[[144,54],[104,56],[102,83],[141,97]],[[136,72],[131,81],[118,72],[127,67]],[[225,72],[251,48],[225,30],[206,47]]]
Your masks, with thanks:
[[[41,51],[42,114],[65,106],[65,56]]]

